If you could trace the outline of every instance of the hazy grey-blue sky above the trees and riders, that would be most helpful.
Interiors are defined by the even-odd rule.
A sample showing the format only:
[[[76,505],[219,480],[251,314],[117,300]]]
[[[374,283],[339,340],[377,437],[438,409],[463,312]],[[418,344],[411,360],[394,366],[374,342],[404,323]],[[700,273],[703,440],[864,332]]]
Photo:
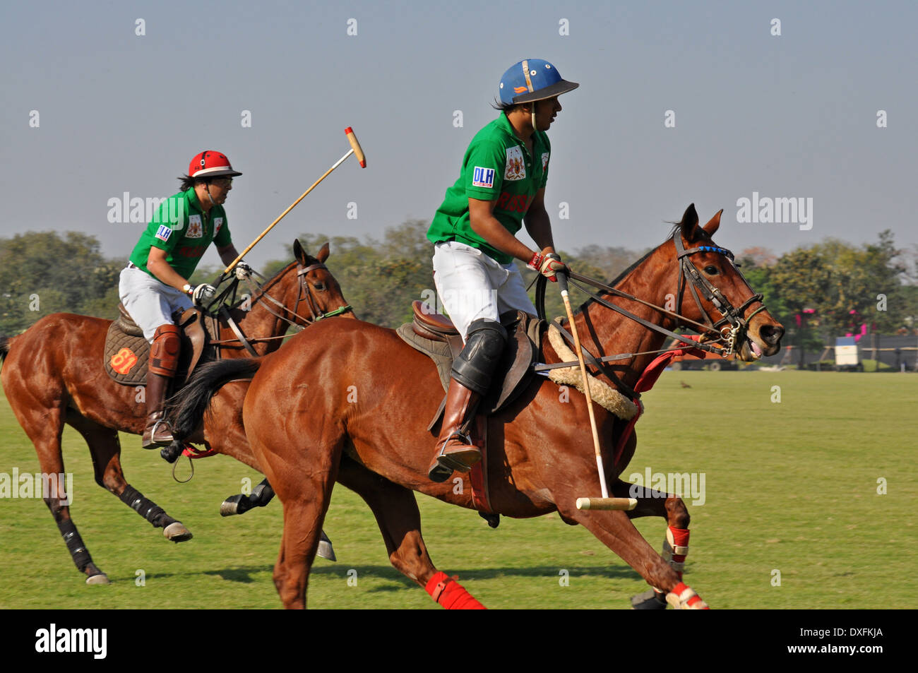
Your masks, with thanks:
[[[145,224],[109,222],[109,199],[174,194],[215,149],[244,174],[226,204],[241,250],[348,150],[346,126],[367,168],[343,163],[249,259],[306,231],[381,236],[431,219],[500,75],[542,58],[580,83],[549,132],[562,250],[655,245],[691,202],[725,208],[716,238],[736,252],[887,228],[918,242],[913,2],[0,7],[0,236],[80,230],[127,260]],[[754,193],[803,198],[809,222],[737,221]]]

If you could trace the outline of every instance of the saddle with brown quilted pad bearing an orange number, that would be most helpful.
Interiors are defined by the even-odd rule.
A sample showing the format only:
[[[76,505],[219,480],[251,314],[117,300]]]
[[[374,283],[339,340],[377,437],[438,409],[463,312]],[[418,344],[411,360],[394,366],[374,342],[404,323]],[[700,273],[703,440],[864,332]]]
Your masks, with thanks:
[[[118,303],[118,314],[118,320],[114,320],[109,325],[106,333],[106,345],[103,352],[106,372],[114,381],[123,386],[146,386],[150,343],[143,338],[143,331],[130,317],[124,304],[120,302]],[[175,311],[173,320],[181,331],[182,339],[182,353],[174,379],[177,389],[195,371],[202,355],[207,354],[205,361],[212,359],[212,355],[205,352],[207,344],[215,337],[209,323],[205,329],[204,313],[199,308]]]

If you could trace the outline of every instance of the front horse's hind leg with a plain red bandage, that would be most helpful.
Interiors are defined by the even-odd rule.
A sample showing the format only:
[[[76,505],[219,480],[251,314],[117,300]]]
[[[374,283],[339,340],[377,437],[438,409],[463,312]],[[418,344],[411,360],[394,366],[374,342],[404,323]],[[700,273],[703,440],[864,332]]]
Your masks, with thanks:
[[[433,566],[420,535],[420,511],[411,490],[347,457],[341,461],[338,482],[373,510],[389,561],[402,575],[417,582],[447,610],[485,609],[461,584]]]

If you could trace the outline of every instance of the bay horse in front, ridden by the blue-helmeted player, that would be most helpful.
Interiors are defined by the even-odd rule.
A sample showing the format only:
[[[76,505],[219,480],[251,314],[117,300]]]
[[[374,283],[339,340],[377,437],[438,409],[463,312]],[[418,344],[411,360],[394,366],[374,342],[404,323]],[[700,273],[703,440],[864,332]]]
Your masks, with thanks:
[[[784,328],[767,313],[762,296],[753,294],[731,262],[732,253],[711,241],[721,213],[700,227],[694,205],[689,206],[672,236],[620,276],[616,289],[644,302],[604,292],[580,308],[575,320],[586,351],[630,353],[610,369],[594,370],[594,376],[613,384],[607,376],[611,371],[622,389],[633,388],[666,340],[603,305],[610,301],[666,330],[683,320],[705,320],[712,327],[729,321],[733,329],[712,332],[729,334],[737,356],[746,361],[778,352]],[[678,318],[660,308],[673,298]],[[543,360],[563,362],[547,340]],[[438,428],[431,432],[425,426],[437,410],[442,387],[425,355],[393,330],[336,320],[297,334],[276,353],[207,365],[200,376],[197,398],[186,398],[182,409],[196,406],[200,413],[222,381],[252,376],[243,421],[252,450],[284,506],[274,585],[286,608],[306,607],[309,570],[336,480],[373,510],[393,566],[444,607],[482,607],[433,566],[420,533],[412,490],[475,508],[467,476],[465,488],[427,477]],[[707,607],[681,580],[689,534],[685,503],[650,488],[635,492],[635,485],[621,480],[636,436],[630,435],[616,462],[612,450],[624,422],[599,406],[594,409],[610,495],[636,495],[637,505],[631,511],[577,509],[578,497],[599,495],[599,477],[591,435],[583,430],[588,427],[586,398],[576,390],[568,393],[565,401],[556,385],[534,376],[520,398],[488,419],[491,509],[515,518],[557,511],[565,522],[586,526],[676,607]],[[675,531],[675,539],[667,533],[666,560],[634,528],[631,519],[642,516],[663,517],[669,531]],[[666,607],[661,599],[655,602]]]

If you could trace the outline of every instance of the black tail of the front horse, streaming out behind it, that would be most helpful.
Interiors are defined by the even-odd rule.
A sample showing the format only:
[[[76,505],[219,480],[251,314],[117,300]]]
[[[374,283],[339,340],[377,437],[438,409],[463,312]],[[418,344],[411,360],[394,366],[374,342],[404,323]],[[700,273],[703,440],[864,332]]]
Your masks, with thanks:
[[[172,424],[174,437],[184,439],[195,432],[220,387],[233,380],[252,378],[261,364],[261,358],[241,358],[197,367],[194,376],[166,405],[166,419]]]

